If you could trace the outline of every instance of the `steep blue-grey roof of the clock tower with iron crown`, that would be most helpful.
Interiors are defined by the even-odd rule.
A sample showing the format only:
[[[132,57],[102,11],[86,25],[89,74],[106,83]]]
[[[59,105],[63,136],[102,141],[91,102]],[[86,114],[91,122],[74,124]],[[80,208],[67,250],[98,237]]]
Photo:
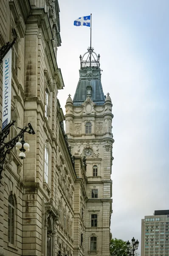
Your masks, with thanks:
[[[85,60],[84,56],[87,57]],[[88,48],[88,52],[83,57],[80,55],[80,78],[73,98],[73,105],[82,105],[87,97],[90,97],[96,105],[104,104],[105,97],[101,85],[99,58],[100,55],[97,56],[93,52],[93,48]]]

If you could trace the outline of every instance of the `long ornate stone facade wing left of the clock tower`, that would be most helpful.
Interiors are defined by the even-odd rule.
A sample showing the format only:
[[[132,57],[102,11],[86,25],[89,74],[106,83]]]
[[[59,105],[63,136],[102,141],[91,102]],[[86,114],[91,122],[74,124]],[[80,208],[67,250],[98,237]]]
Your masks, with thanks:
[[[70,152],[57,99],[64,87],[56,62],[61,45],[58,1],[0,1],[0,14],[0,47],[13,40],[13,29],[18,35],[12,49],[11,118],[16,125],[7,140],[28,122],[36,133],[25,134],[30,152],[24,161],[15,149],[6,158],[0,186],[0,255],[84,255],[86,166],[79,152],[74,157]],[[0,92],[2,97],[2,69]],[[79,123],[75,130],[79,135]]]

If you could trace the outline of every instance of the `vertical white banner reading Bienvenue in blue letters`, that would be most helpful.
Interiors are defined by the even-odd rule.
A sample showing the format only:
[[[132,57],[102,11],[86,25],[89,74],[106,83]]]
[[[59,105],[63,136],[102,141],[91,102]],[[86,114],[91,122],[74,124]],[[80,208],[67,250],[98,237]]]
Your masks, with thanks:
[[[12,49],[3,58],[3,109],[2,130],[11,122]]]

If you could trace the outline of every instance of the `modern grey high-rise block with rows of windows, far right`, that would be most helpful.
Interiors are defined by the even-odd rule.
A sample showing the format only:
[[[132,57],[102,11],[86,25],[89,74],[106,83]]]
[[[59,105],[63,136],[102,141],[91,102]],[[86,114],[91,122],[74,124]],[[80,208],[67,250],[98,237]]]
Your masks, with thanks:
[[[169,256],[169,210],[141,220],[141,256]]]

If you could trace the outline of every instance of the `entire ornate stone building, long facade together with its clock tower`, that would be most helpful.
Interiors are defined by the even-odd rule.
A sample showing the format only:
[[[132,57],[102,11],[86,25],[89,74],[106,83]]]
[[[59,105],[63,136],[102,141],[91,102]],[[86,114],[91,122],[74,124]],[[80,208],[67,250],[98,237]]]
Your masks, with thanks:
[[[87,66],[81,58],[79,85],[64,117],[57,98],[64,87],[57,66],[58,0],[0,0],[0,47],[16,33],[16,122],[6,141],[28,122],[36,134],[25,134],[30,152],[24,161],[12,149],[3,166],[0,256],[109,256],[113,114],[101,86],[100,57]],[[2,75],[1,65],[0,128]]]

